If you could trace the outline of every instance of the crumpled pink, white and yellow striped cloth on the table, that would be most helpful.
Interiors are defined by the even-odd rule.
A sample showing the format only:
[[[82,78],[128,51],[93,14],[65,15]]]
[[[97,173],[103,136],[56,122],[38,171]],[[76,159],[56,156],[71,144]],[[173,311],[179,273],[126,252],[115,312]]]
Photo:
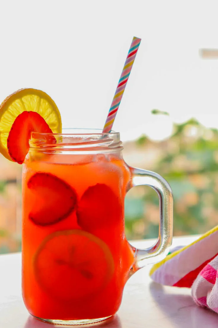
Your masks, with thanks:
[[[191,288],[197,305],[218,313],[218,226],[190,245],[173,249],[154,264],[150,276],[163,285]]]

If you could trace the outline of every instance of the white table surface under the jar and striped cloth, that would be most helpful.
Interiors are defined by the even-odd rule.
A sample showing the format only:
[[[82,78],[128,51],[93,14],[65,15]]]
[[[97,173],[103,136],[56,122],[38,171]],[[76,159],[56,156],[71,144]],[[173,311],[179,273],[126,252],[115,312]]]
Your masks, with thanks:
[[[174,238],[173,244],[186,245],[194,239],[196,236]],[[138,241],[134,246],[147,247],[151,243],[151,240]],[[152,282],[148,276],[150,267],[140,269],[129,279],[120,309],[114,318],[88,327],[218,327],[218,314],[195,305],[190,296],[190,289],[166,287]],[[49,327],[52,325],[32,318],[24,306],[21,296],[21,254],[1,255],[0,328]],[[56,327],[64,326],[56,325]]]

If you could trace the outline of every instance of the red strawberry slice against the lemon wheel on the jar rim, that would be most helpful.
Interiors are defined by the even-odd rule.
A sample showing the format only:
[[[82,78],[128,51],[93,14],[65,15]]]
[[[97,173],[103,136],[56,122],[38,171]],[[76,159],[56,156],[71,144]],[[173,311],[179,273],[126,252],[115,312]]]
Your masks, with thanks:
[[[8,152],[14,162],[24,162],[32,132],[52,133],[52,130],[40,114],[24,111],[16,117],[7,140]],[[51,143],[56,142],[55,137],[48,139]]]

